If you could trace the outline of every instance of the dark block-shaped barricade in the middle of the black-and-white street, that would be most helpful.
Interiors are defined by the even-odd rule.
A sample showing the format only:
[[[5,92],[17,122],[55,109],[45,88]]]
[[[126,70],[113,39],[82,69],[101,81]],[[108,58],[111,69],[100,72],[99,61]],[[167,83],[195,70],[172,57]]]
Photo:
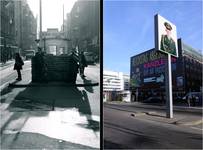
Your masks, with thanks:
[[[74,55],[36,54],[32,58],[32,82],[65,81],[75,83],[78,60]]]

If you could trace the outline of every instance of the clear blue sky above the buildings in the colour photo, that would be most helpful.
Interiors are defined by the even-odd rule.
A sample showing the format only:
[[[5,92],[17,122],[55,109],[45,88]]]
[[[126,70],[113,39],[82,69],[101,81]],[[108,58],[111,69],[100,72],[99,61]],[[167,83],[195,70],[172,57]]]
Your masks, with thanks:
[[[154,15],[177,27],[177,37],[202,51],[202,1],[110,1],[103,6],[104,70],[130,74],[130,57],[154,48]]]

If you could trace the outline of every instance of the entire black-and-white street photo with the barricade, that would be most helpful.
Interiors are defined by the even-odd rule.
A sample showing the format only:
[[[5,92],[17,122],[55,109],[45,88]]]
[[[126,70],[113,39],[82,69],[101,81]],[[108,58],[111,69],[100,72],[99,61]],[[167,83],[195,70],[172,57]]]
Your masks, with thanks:
[[[99,149],[100,1],[0,6],[0,149]]]

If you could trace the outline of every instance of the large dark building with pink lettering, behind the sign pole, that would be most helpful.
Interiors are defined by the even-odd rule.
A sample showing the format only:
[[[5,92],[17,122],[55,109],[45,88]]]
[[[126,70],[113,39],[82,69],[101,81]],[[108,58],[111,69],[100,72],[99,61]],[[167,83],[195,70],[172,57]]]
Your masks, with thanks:
[[[202,88],[202,54],[178,39],[179,57],[171,58],[173,99]],[[151,49],[131,57],[132,101],[165,95],[166,55]]]

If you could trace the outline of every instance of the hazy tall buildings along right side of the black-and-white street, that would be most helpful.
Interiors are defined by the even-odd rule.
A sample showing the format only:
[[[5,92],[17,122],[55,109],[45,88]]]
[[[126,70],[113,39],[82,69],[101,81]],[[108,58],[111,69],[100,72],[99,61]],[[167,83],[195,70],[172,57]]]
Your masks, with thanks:
[[[66,19],[66,35],[71,47],[92,52],[99,60],[100,2],[78,0]]]

